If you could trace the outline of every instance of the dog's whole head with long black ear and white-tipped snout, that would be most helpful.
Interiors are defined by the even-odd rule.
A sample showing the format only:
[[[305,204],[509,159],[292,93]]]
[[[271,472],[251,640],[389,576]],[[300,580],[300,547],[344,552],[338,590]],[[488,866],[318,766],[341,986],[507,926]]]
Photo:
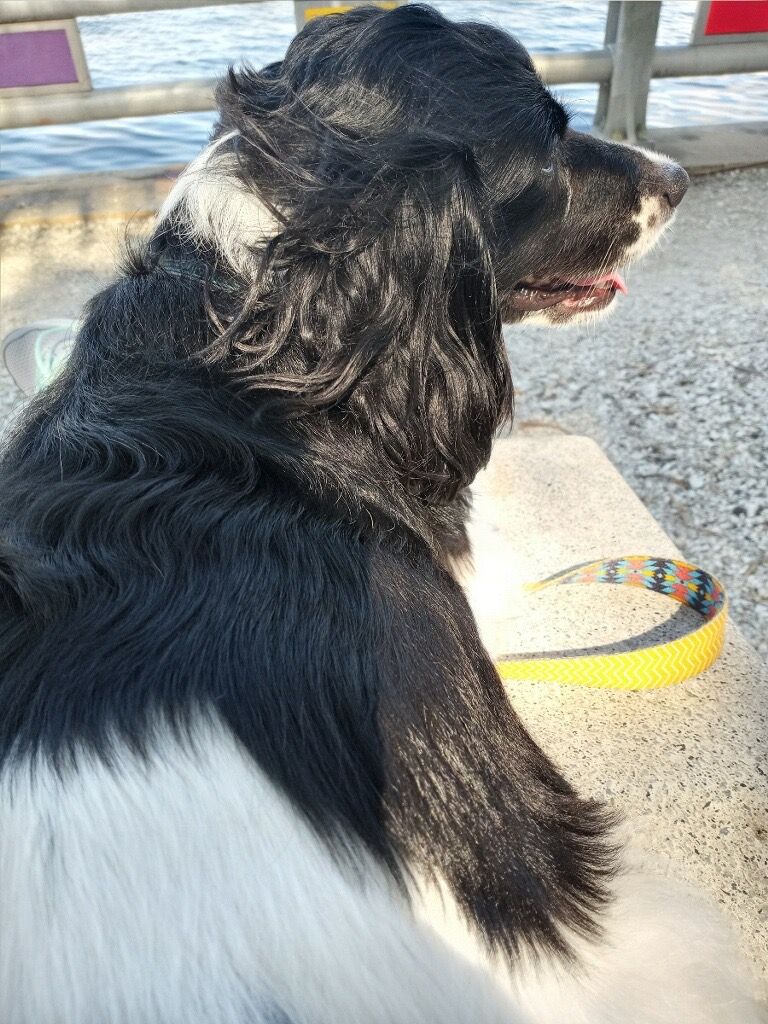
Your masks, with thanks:
[[[502,321],[607,306],[685,190],[670,162],[570,131],[510,36],[415,4],[312,22],[218,98],[156,242],[229,275],[218,351],[254,400],[322,413],[431,503],[511,412]]]

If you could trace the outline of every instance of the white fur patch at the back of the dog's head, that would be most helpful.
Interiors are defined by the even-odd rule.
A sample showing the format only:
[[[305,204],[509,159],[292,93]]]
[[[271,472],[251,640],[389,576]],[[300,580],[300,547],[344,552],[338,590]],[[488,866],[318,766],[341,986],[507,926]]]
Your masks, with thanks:
[[[179,175],[158,215],[173,217],[188,241],[215,249],[230,266],[247,270],[254,246],[278,233],[271,211],[238,173],[238,156],[225,148],[228,132],[203,150]]]

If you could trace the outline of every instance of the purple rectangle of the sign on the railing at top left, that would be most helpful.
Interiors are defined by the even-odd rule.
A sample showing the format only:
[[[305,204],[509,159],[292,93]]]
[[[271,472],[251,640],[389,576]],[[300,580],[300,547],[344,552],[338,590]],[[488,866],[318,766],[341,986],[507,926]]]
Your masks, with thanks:
[[[0,35],[0,89],[78,81],[66,29]]]

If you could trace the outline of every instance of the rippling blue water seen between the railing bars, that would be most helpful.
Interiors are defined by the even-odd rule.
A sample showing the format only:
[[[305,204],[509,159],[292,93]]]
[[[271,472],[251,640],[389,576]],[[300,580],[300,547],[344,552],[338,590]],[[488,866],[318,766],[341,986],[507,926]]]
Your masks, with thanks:
[[[517,0],[436,0],[450,17],[490,22],[531,50],[602,45],[604,0],[567,3]],[[664,4],[658,43],[690,39],[695,0]],[[294,34],[293,3],[153,11],[79,19],[94,88],[221,75],[229,63],[280,59]],[[587,127],[597,86],[555,90]],[[658,127],[768,118],[768,73],[678,79],[651,84],[648,124]],[[175,114],[2,133],[0,178],[185,163],[204,144],[213,113]]]

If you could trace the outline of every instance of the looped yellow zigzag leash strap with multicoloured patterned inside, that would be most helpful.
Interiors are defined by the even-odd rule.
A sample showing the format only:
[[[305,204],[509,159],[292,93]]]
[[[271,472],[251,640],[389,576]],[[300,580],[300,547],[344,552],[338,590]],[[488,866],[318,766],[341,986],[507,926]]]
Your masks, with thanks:
[[[723,649],[728,600],[721,584],[689,562],[647,555],[585,562],[539,583],[528,593],[565,584],[608,583],[666,594],[697,611],[703,622],[667,643],[609,654],[508,655],[497,662],[502,679],[566,683],[600,689],[650,690],[682,683],[709,669]]]

